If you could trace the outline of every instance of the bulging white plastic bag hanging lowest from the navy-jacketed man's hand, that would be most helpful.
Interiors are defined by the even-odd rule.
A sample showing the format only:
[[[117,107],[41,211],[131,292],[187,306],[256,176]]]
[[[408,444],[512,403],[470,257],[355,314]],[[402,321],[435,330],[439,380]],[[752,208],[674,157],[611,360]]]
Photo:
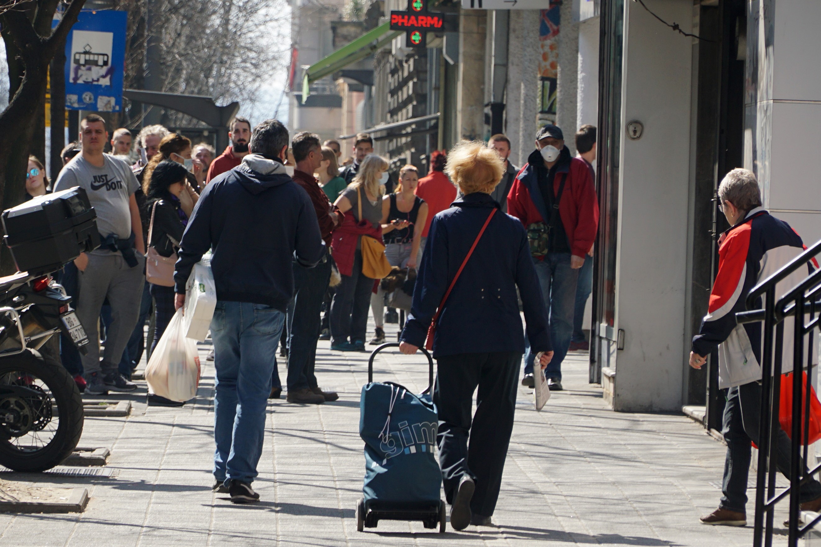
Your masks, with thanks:
[[[177,310],[157,342],[145,367],[151,393],[172,401],[194,398],[200,384],[200,355],[197,342],[184,335],[182,310]]]

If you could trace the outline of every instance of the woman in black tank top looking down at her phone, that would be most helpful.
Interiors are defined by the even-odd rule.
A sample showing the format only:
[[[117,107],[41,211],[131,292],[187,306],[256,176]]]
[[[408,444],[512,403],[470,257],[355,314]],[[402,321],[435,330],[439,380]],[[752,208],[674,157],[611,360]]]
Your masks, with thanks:
[[[419,171],[413,165],[404,165],[399,170],[396,190],[382,198],[385,255],[388,262],[398,268],[416,268],[422,229],[428,218],[428,204],[414,193],[418,184]],[[378,346],[385,342],[385,292],[381,286],[370,296],[370,309],[374,312],[376,323],[376,332],[370,344]]]

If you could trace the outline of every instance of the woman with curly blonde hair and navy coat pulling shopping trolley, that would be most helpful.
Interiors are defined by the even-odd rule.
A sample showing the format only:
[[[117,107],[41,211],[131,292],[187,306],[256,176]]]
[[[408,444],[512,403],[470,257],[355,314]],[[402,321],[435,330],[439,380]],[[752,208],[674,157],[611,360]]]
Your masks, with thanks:
[[[424,346],[433,323],[439,464],[451,526],[463,530],[491,526],[502,485],[525,352],[516,287],[543,369],[553,347],[525,228],[490,196],[504,174],[502,159],[484,143],[463,141],[447,154],[445,171],[464,196],[430,224],[400,350],[410,355]]]

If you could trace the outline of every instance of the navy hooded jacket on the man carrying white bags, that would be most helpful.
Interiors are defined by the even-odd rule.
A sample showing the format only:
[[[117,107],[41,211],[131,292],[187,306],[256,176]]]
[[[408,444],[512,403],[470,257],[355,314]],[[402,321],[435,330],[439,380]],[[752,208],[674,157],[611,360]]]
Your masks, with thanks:
[[[256,154],[205,186],[182,235],[175,290],[186,292],[194,264],[209,248],[221,301],[251,302],[285,311],[294,292],[291,263],[313,267],[325,255],[319,223],[308,193],[291,180],[282,163]]]

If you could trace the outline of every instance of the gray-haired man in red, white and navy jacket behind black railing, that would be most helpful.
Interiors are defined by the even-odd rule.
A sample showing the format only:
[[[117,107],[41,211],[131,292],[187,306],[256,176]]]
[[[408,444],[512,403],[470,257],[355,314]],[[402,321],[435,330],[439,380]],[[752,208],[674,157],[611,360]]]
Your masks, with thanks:
[[[713,513],[701,517],[704,524],[746,524],[747,474],[750,471],[750,441],[759,442],[762,351],[760,323],[738,324],[736,312],[746,310],[750,290],[804,250],[800,236],[790,225],[770,215],[761,206],[755,175],[733,169],[718,186],[719,207],[732,228],[722,233],[718,247],[718,274],[710,292],[707,315],[693,338],[690,366],[700,369],[707,356],[718,348],[718,387],[729,388],[724,407],[722,434],[727,442],[721,503]],[[817,264],[808,264],[814,269]],[[804,280],[808,269],[798,269],[776,285],[778,296]],[[759,303],[755,306],[759,308]],[[793,317],[784,321],[791,332]],[[814,344],[813,344],[814,347]],[[814,354],[814,363],[817,363]],[[792,370],[792,344],[785,343],[782,371]],[[790,468],[790,439],[778,431],[778,469]],[[821,509],[821,484],[810,478],[801,485],[802,511]]]

